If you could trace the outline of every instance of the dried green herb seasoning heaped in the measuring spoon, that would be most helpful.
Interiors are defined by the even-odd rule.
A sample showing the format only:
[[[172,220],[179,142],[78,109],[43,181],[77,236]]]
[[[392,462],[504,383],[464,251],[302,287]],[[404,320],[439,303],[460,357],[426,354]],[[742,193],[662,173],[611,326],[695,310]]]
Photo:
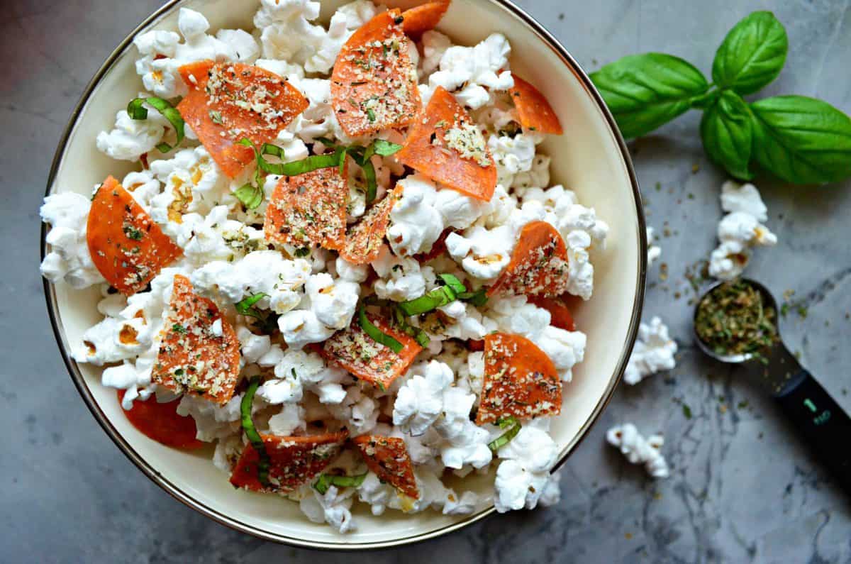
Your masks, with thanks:
[[[777,312],[761,291],[741,279],[718,285],[700,300],[694,329],[716,354],[750,354],[762,362],[763,352],[780,339]]]

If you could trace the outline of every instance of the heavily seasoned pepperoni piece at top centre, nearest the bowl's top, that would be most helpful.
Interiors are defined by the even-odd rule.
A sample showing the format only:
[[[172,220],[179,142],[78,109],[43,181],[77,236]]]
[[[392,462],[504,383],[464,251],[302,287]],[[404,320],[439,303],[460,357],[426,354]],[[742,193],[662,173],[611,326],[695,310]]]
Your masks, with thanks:
[[[331,104],[346,135],[403,127],[420,111],[417,72],[402,22],[398,9],[376,15],[349,37],[334,61]]]

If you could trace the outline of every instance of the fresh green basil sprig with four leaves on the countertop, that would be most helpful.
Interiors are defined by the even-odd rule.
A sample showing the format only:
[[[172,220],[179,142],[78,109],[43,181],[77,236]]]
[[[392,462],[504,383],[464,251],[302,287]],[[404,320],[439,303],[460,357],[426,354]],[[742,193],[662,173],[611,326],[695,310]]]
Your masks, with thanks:
[[[771,12],[736,24],[718,48],[712,84],[673,55],[630,55],[591,73],[627,137],[646,135],[690,108],[704,112],[700,138],[709,158],[736,178],[758,167],[793,184],[851,176],[851,118],[825,101],[787,95],[746,102],[777,78],[789,39]]]

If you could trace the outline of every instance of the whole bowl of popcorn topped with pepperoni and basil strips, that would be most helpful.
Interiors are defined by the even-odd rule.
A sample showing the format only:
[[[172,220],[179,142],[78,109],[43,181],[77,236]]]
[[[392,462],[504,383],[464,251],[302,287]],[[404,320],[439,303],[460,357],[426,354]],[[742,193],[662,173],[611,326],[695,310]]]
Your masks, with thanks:
[[[639,204],[585,72],[511,3],[174,1],[71,118],[41,270],[157,485],[375,548],[557,502],[635,340]]]

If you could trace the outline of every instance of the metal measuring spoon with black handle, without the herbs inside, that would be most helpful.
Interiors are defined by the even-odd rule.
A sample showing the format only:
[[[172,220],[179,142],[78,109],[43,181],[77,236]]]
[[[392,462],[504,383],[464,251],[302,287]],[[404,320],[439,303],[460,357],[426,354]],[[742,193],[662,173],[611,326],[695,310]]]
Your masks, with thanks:
[[[778,311],[774,296],[765,286],[755,280],[741,280],[762,294],[763,307]],[[700,296],[694,308],[693,321],[697,318],[700,303],[722,284],[712,285]],[[822,463],[836,475],[842,487],[851,492],[851,417],[785,347],[780,339],[780,327],[777,328],[777,342],[763,354],[764,360],[760,362],[752,354],[717,354],[700,339],[696,324],[693,325],[700,349],[721,362],[741,363],[746,371],[751,372],[768,389]]]

